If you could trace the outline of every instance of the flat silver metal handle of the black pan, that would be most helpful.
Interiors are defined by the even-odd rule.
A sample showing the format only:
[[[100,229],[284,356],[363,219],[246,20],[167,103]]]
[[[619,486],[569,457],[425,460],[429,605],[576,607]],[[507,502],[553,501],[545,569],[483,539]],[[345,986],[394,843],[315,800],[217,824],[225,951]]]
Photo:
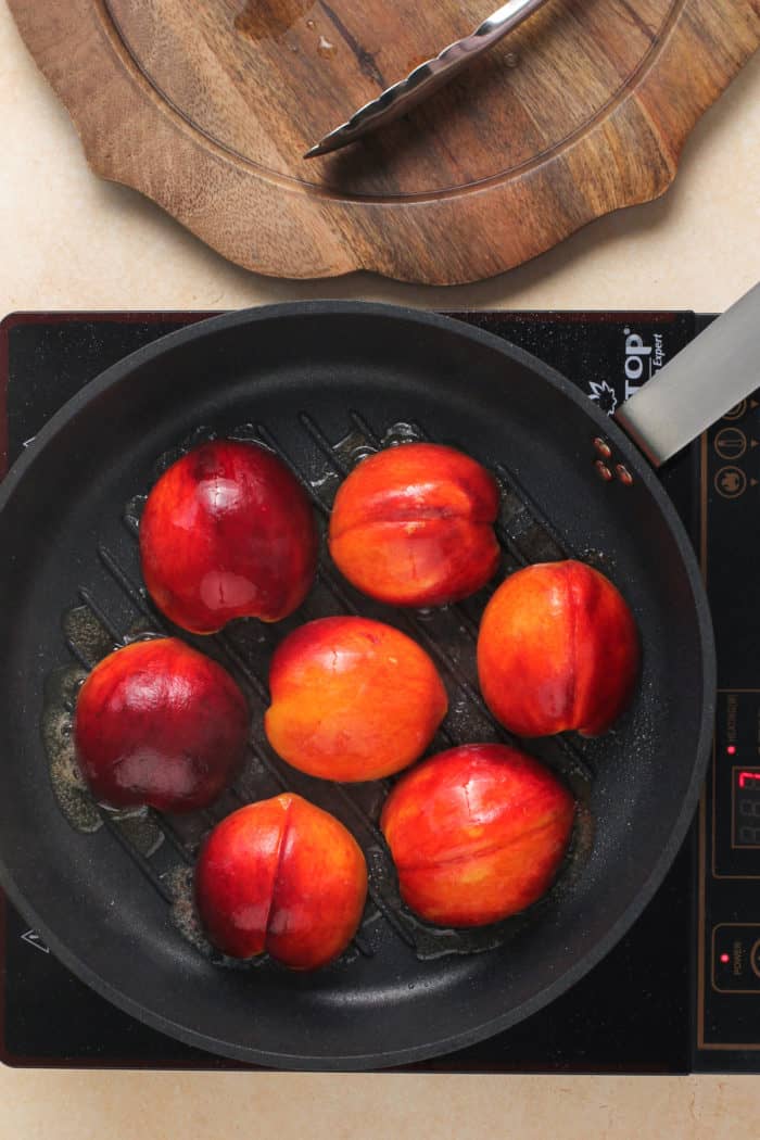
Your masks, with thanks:
[[[760,388],[760,282],[615,413],[659,467]]]

